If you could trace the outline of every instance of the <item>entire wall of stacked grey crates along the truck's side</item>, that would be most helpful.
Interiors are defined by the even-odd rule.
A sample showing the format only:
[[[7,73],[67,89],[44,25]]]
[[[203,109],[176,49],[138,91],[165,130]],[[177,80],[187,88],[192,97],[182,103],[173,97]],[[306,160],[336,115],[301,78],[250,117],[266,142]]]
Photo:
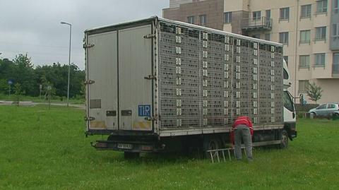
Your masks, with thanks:
[[[283,122],[281,47],[167,22],[158,36],[163,129]]]

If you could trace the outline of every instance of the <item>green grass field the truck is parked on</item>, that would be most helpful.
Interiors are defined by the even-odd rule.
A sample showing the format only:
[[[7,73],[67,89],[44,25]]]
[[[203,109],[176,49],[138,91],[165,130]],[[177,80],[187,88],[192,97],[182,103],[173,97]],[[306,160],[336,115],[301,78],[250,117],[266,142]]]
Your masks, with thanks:
[[[339,121],[299,119],[286,150],[254,162],[98,152],[80,109],[0,106],[0,189],[339,189]]]

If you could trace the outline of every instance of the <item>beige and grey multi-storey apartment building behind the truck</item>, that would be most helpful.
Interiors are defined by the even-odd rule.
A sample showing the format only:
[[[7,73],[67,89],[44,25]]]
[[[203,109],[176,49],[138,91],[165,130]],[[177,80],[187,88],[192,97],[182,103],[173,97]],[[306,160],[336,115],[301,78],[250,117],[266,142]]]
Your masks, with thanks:
[[[339,0],[169,0],[162,14],[283,43],[290,93],[307,97],[314,82],[323,89],[318,103],[339,102]]]

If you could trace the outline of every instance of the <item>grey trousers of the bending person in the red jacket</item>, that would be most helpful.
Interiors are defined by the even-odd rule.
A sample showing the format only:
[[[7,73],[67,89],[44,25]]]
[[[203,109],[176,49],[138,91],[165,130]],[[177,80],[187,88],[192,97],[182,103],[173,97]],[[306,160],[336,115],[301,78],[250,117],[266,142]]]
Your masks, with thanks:
[[[234,131],[234,155],[237,160],[242,160],[242,141],[244,141],[246,155],[249,160],[252,159],[252,138],[249,127],[239,125]]]

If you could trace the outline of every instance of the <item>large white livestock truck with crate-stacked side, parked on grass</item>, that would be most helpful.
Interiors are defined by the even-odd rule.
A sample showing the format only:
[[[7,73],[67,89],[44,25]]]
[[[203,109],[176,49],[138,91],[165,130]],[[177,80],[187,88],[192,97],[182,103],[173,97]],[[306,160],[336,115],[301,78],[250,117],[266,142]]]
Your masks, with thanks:
[[[108,135],[97,150],[224,148],[242,115],[254,146],[297,136],[282,44],[157,17],[85,30],[84,42],[86,135]]]

